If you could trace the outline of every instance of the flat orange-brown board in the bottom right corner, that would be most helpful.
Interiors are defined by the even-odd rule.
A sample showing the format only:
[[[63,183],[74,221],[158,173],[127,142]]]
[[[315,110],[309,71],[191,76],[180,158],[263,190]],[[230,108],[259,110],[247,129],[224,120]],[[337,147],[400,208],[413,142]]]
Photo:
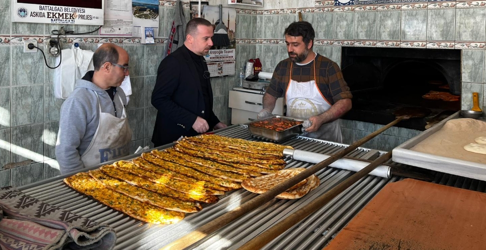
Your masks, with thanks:
[[[324,248],[484,249],[486,193],[415,179],[387,184]]]

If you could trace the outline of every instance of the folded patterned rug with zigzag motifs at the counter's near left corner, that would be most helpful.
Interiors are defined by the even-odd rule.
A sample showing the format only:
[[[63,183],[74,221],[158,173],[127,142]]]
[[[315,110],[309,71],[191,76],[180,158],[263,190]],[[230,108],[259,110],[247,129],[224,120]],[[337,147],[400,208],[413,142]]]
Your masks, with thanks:
[[[116,233],[13,188],[0,188],[0,248],[113,249]]]

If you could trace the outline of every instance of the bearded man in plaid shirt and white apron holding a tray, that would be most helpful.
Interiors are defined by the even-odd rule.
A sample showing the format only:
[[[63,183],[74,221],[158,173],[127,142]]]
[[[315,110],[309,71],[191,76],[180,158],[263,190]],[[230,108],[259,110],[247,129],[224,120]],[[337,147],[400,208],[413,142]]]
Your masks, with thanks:
[[[308,119],[308,137],[342,142],[338,118],[351,109],[349,87],[336,62],[312,50],[314,28],[307,21],[285,29],[289,58],[279,62],[263,96],[258,118],[272,115],[278,97],[285,96],[287,116]]]

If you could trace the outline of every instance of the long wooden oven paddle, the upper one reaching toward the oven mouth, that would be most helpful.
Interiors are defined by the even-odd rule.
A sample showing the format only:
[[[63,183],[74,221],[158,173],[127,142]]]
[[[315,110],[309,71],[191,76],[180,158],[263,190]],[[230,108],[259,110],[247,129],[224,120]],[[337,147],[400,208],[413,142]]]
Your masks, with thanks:
[[[193,243],[203,239],[205,236],[209,235],[210,233],[214,232],[215,230],[225,226],[229,222],[239,218],[240,216],[246,214],[247,212],[263,205],[264,203],[268,202],[269,200],[273,199],[278,194],[282,193],[283,191],[289,189],[291,186],[299,183],[303,179],[311,176],[312,174],[318,172],[319,170],[323,169],[324,167],[328,166],[332,162],[338,160],[339,158],[344,157],[346,154],[352,152],[354,149],[361,146],[363,143],[367,142],[368,140],[372,139],[376,135],[380,134],[381,132],[385,131],[386,129],[390,128],[391,126],[395,125],[396,123],[400,122],[403,119],[408,119],[410,117],[419,117],[419,114],[413,114],[410,110],[408,112],[403,111],[403,113],[397,112],[401,115],[397,115],[397,118],[392,122],[386,124],[382,128],[372,132],[371,134],[366,135],[365,137],[361,138],[360,140],[354,142],[353,144],[347,146],[341,151],[338,151],[332,154],[329,158],[309,167],[307,170],[297,174],[296,176],[276,185],[274,188],[258,195],[257,197],[239,205],[238,207],[234,208],[233,210],[217,217],[216,219],[200,226],[196,230],[187,233],[186,235],[180,237],[177,240],[172,241],[171,243],[165,245],[162,249],[184,249]],[[389,155],[388,155],[389,156]],[[376,166],[375,166],[376,167]],[[371,171],[370,169],[369,171]],[[356,182],[358,179],[353,180],[352,183]],[[349,183],[348,184],[352,184]]]

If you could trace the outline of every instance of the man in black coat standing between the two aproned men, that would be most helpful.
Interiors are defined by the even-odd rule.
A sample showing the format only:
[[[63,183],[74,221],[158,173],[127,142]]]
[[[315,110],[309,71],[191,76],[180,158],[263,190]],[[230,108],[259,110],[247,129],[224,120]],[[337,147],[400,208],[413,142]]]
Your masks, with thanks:
[[[226,127],[212,111],[212,88],[203,55],[212,46],[213,27],[203,18],[187,22],[184,45],[167,55],[157,70],[152,105],[157,118],[155,146]]]

